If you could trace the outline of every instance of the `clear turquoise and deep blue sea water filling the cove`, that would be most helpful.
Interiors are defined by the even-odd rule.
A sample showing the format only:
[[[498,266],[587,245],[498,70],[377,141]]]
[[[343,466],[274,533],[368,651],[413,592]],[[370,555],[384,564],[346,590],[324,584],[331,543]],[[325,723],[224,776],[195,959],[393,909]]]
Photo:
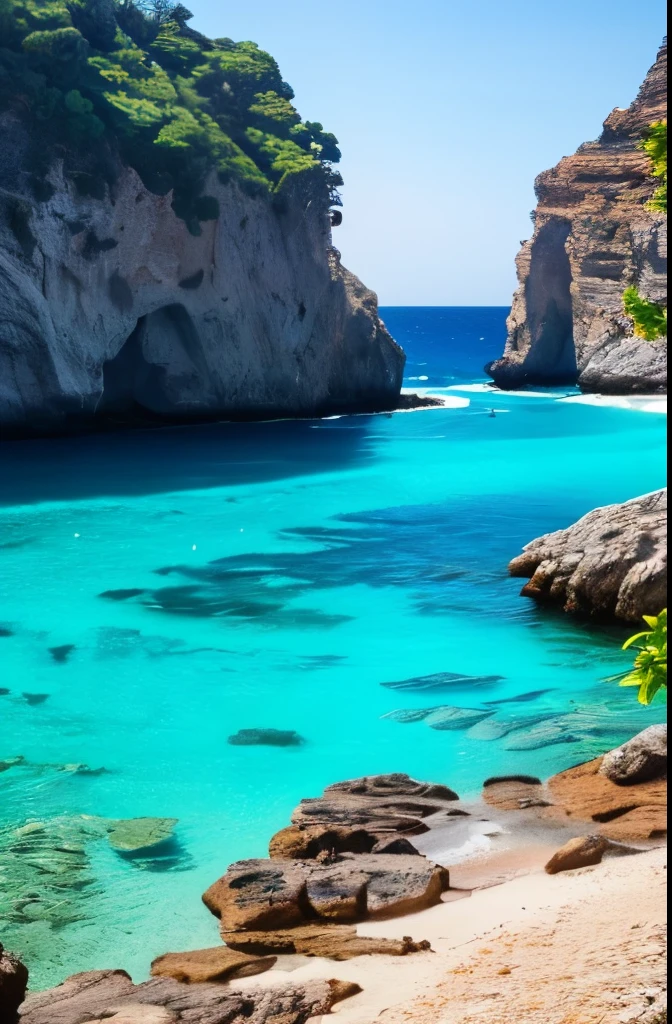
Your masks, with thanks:
[[[484,379],[505,313],[383,315],[409,378],[427,378],[411,383],[459,388]],[[627,664],[620,631],[538,609],[506,565],[532,538],[662,485],[665,417],[563,392],[448,393],[463,404],[0,450],[0,758],[28,761],[0,774],[0,824],[179,819],[156,860],[91,844],[81,920],[61,927],[12,909],[5,874],[0,940],[36,986],[112,966],[141,979],[154,955],[215,942],[200,894],[232,860],[263,855],[299,799],[330,782],[406,771],[469,795],[487,775],[547,775],[663,718],[600,681]],[[140,593],[98,596],[120,589]],[[60,645],[74,646],[57,660]],[[380,685],[440,672],[503,678]],[[575,716],[561,742],[381,717],[538,690],[491,707],[498,721]],[[249,727],[305,742],[226,742]],[[511,749],[515,736],[533,749]],[[108,772],[48,767],[79,762]]]

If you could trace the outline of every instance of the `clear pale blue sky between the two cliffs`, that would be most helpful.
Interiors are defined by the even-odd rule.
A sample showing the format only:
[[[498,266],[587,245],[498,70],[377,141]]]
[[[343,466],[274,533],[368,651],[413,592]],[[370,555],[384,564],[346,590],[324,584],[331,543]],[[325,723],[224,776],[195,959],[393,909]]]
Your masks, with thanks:
[[[535,176],[634,98],[663,0],[185,0],[341,144],[334,244],[383,305],[507,305]]]

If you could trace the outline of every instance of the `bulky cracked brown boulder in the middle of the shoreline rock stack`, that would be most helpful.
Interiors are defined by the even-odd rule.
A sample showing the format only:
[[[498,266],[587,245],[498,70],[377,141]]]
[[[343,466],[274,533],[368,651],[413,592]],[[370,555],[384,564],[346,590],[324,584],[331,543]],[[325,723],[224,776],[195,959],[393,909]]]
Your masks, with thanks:
[[[422,910],[449,888],[448,870],[419,854],[343,854],[331,863],[243,860],[203,896],[222,933],[354,922]]]

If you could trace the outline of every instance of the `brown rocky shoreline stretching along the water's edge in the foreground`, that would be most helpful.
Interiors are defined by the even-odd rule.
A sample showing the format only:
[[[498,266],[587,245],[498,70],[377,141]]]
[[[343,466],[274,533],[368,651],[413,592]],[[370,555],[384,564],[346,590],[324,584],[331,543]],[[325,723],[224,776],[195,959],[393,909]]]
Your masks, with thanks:
[[[454,846],[451,837],[465,822],[482,828],[492,814],[503,815],[509,830],[522,837],[543,833],[547,846],[556,847],[546,863],[549,874],[659,846],[667,827],[667,729],[649,727],[546,783],[519,775],[487,779],[475,805],[446,785],[404,774],[328,786],[322,797],[301,801],[291,823],[271,838],[267,859],[232,864],[204,894],[225,945],[166,953],[153,963],[153,980],[139,985],[123,971],[75,975],[55,989],[29,994],[20,1022],[305,1024],[327,1015],[360,986],[334,978],[288,983],[282,972],[292,955],[302,963],[306,956],[342,963],[372,953],[431,954],[421,935],[375,936],[358,926],[404,921],[464,895],[450,865],[422,849],[428,843]],[[487,862],[480,869],[479,885],[492,885]],[[464,868],[457,872],[459,878]],[[278,984],[243,984],[265,972]],[[20,963],[0,951],[3,1024],[16,1019],[26,980]]]

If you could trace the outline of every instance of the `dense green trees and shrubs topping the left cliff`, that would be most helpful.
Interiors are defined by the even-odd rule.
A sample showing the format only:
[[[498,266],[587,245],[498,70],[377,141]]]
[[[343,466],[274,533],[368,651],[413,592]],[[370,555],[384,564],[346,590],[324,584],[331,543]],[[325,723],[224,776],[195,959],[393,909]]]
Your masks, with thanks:
[[[212,171],[277,197],[301,176],[338,203],[337,139],[301,120],[274,58],[191,17],[167,0],[0,0],[0,112],[27,122],[42,169],[119,153],[196,232],[217,216]]]

